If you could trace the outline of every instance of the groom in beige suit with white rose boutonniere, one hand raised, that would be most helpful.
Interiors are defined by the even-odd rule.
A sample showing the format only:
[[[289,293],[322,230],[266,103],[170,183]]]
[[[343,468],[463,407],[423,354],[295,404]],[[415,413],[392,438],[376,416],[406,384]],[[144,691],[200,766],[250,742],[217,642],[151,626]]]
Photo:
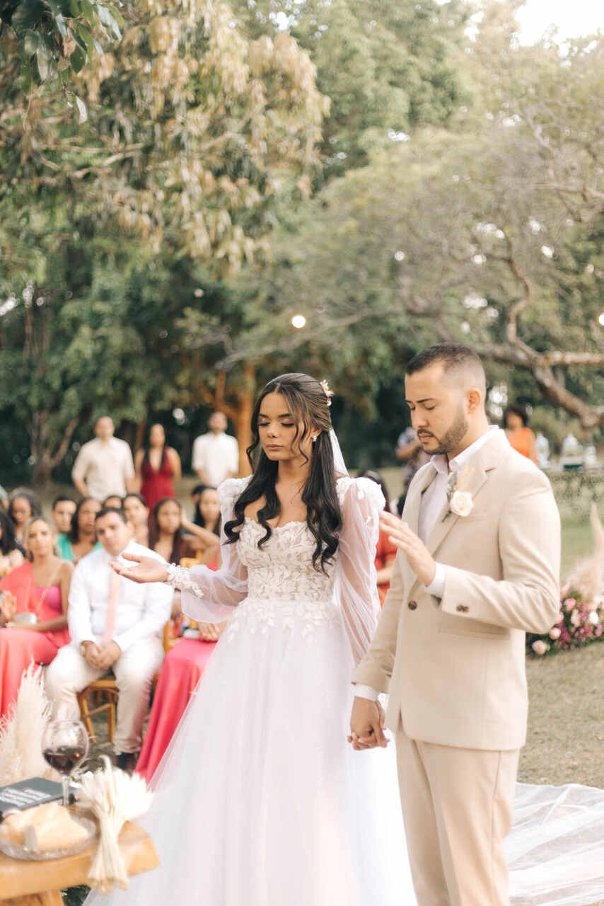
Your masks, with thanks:
[[[560,610],[560,517],[546,477],[489,427],[484,369],[443,343],[407,365],[411,421],[430,461],[403,519],[376,636],[354,674],[350,742],[396,734],[418,906],[509,903],[503,841],[526,737],[524,632]]]

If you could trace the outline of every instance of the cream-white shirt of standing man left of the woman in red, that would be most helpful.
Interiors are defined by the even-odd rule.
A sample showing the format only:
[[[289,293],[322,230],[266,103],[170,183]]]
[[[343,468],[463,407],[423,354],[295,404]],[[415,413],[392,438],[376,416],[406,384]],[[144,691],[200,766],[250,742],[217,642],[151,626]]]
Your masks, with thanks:
[[[89,440],[73,464],[72,477],[86,482],[88,493],[103,501],[110,494],[123,497],[126,480],[134,477],[132,451],[125,440]]]

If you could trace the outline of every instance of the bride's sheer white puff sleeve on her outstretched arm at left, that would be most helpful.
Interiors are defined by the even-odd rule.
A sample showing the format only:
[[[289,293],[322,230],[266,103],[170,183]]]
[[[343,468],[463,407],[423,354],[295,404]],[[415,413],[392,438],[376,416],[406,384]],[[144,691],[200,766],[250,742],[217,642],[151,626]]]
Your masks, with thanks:
[[[235,500],[249,478],[227,478],[218,488],[222,525],[234,516]],[[197,622],[223,622],[247,594],[247,567],[239,559],[238,545],[227,545],[224,527],[220,530],[222,566],[214,572],[207,566],[186,569],[168,566],[168,583],[181,591],[183,612]]]

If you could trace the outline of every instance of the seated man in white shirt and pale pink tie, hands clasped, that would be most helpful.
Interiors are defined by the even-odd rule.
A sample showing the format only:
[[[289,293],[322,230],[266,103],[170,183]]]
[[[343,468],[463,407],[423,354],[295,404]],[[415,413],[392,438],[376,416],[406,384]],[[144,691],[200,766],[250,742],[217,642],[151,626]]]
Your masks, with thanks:
[[[172,589],[163,583],[137,584],[110,567],[121,554],[155,556],[132,541],[133,529],[122,509],[101,509],[96,516],[101,550],[84,557],[73,572],[66,645],[46,672],[46,689],[55,717],[80,717],[76,693],[113,670],[120,698],[114,746],[118,766],[136,764],[151,680],[164,658],[161,642],[168,622]],[[158,557],[159,559],[159,557]]]

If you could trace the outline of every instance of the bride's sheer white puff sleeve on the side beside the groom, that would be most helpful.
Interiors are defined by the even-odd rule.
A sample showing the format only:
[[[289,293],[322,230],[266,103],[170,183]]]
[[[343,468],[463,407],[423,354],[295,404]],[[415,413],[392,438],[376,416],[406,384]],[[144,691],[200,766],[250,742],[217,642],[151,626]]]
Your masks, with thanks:
[[[338,481],[342,513],[334,593],[355,663],[369,648],[379,619],[378,575],[375,567],[379,513],[384,496],[370,478]]]

